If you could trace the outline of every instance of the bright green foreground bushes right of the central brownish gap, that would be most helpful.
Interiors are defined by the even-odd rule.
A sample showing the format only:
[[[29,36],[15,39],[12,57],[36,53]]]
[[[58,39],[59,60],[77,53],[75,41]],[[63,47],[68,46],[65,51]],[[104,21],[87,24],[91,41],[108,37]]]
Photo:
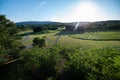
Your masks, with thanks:
[[[114,58],[119,55],[109,48],[90,51],[79,50],[79,53],[75,52],[69,55],[65,74],[67,74],[68,80],[119,79],[115,72],[117,67],[114,66]]]

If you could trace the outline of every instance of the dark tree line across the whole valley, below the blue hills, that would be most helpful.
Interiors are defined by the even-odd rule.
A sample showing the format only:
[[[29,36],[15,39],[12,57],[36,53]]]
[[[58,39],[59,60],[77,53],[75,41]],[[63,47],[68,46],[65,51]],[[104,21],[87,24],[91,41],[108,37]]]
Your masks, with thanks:
[[[57,30],[58,28],[65,28],[66,31],[89,32],[89,31],[107,31],[120,30],[120,21],[100,21],[100,22],[80,22],[75,29],[75,23],[56,23],[44,25],[17,25],[20,30],[31,29],[34,33],[45,30]]]

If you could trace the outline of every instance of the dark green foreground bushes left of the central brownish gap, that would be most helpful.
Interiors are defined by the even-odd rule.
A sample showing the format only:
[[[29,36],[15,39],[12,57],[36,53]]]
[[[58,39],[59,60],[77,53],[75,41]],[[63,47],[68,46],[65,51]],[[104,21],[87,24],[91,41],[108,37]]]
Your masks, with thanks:
[[[5,76],[9,80],[45,80],[56,76],[56,65],[60,61],[57,48],[33,48],[21,53],[23,60]],[[21,74],[22,73],[22,74]],[[31,76],[32,75],[32,76]]]

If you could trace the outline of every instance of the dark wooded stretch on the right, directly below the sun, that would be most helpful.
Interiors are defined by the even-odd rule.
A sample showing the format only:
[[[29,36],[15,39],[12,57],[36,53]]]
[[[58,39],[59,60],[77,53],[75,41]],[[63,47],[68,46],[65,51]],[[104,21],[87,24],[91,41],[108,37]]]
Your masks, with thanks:
[[[67,25],[67,31],[74,31],[75,25]],[[86,31],[107,31],[107,30],[120,30],[120,21],[101,21],[93,23],[79,23],[75,31],[86,32]]]

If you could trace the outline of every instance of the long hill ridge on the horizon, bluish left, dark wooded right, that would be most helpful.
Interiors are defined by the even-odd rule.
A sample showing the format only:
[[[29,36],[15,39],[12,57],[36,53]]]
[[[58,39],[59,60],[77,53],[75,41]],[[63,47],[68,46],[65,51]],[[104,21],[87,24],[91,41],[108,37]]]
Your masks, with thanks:
[[[17,26],[28,25],[32,29],[34,27],[40,27],[40,25],[48,27],[65,27],[67,31],[103,31],[103,30],[120,30],[120,20],[109,20],[109,21],[97,21],[97,22],[79,22],[79,25],[75,26],[78,22],[61,23],[52,21],[25,21],[16,23]]]

